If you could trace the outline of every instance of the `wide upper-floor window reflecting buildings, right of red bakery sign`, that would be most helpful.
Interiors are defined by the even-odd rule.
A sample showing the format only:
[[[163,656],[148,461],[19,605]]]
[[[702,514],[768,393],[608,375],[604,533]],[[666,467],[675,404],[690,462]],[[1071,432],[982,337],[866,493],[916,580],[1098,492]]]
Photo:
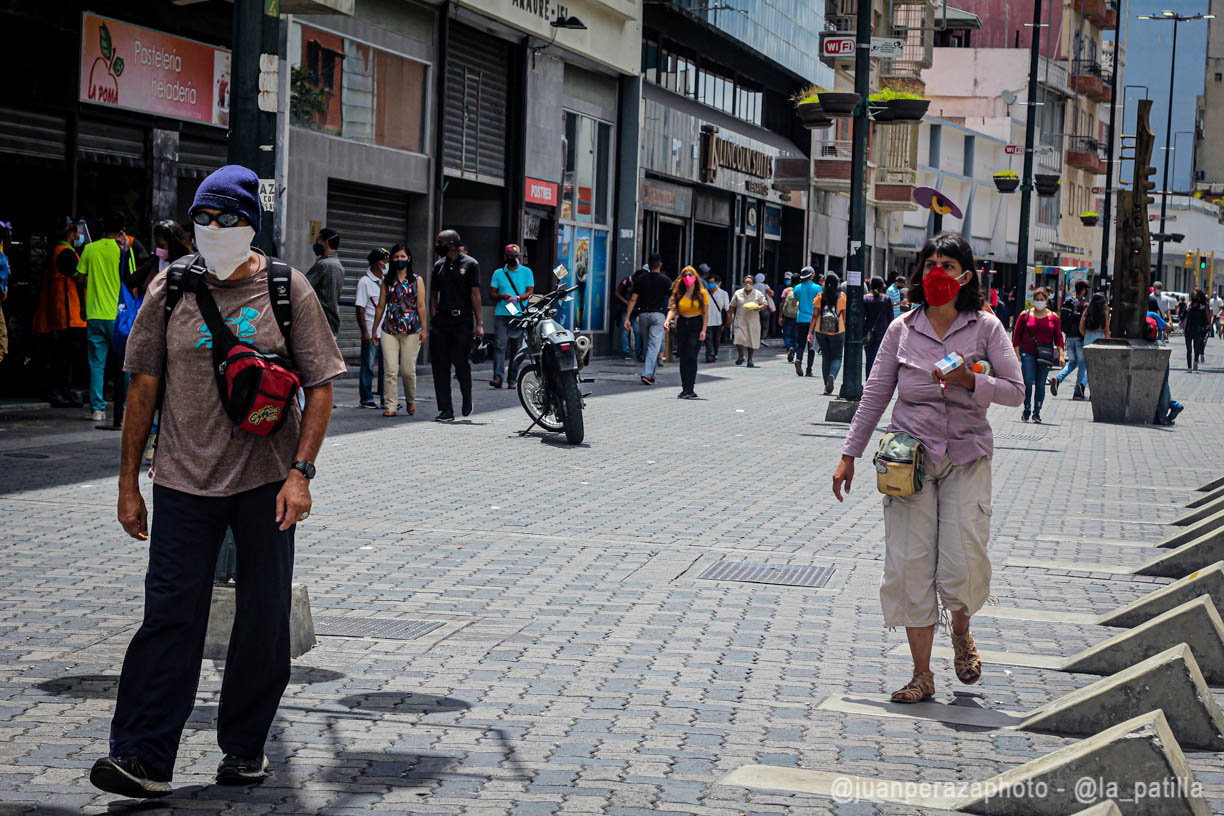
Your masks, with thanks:
[[[421,150],[425,64],[300,23],[289,39],[295,127]]]

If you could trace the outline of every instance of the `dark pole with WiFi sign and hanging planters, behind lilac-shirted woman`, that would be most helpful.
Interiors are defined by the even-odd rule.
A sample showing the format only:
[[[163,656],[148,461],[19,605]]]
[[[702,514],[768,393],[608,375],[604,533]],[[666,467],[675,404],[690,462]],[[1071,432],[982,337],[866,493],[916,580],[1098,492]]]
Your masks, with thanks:
[[[848,422],[863,396],[863,274],[867,269],[867,135],[871,95],[871,2],[858,0],[854,21],[854,108],[853,143],[851,146],[849,181],[849,246],[846,252],[846,349],[842,360],[842,387],[837,396],[846,400],[830,402],[826,420]]]

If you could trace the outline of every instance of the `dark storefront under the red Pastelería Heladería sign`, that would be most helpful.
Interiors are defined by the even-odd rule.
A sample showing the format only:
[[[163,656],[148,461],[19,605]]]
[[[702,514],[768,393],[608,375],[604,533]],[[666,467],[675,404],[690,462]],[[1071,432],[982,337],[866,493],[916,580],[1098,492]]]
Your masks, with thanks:
[[[0,394],[38,396],[45,344],[29,322],[65,220],[83,219],[98,237],[99,220],[119,212],[152,247],[153,224],[184,220],[200,179],[225,163],[230,15],[22,4],[5,27],[0,220],[13,243]]]

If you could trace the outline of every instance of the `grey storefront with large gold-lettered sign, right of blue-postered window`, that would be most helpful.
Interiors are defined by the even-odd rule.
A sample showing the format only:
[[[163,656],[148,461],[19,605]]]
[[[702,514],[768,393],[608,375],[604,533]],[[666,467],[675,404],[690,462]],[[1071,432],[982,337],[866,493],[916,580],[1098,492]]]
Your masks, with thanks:
[[[659,253],[671,275],[705,263],[728,286],[798,272],[804,193],[776,179],[798,147],[652,84],[643,95],[639,262]]]

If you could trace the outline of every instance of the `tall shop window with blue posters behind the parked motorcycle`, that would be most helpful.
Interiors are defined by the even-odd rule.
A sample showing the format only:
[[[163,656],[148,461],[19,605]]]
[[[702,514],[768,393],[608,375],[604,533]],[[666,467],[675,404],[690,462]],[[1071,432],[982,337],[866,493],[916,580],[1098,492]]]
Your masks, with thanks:
[[[583,332],[606,330],[608,243],[612,228],[612,125],[565,111],[565,172],[557,229],[557,262],[578,286],[558,317]]]

